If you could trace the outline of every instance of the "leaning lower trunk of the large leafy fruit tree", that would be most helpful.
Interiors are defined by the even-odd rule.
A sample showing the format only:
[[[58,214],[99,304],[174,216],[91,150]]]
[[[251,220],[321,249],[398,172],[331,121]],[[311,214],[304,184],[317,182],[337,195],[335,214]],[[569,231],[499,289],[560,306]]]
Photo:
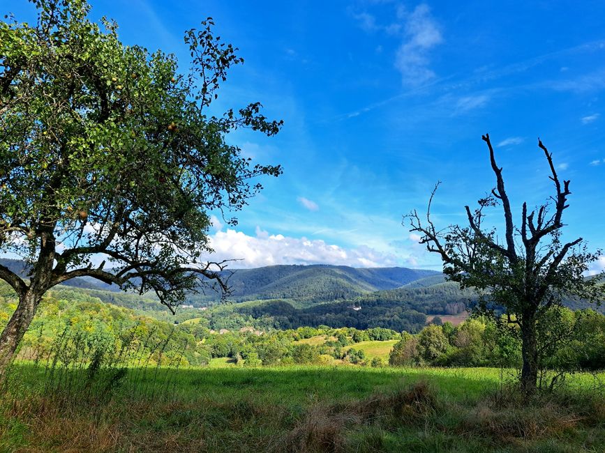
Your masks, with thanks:
[[[41,299],[42,296],[33,291],[27,291],[27,293],[20,296],[15,313],[10,317],[6,328],[0,335],[0,376],[13,360],[17,346],[19,346],[23,335],[29,328]]]

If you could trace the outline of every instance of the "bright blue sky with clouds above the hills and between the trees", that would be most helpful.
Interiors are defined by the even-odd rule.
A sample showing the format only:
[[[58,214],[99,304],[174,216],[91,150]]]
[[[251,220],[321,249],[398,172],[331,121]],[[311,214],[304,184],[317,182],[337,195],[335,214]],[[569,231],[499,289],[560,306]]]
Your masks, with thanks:
[[[537,137],[571,179],[566,238],[605,248],[605,3],[602,1],[91,0],[117,20],[126,44],[173,52],[183,31],[214,17],[239,47],[216,112],[260,101],[284,120],[276,137],[230,141],[280,178],[239,213],[217,218],[217,258],[238,266],[337,263],[439,268],[401,226],[424,210],[464,222],[493,187],[489,132],[516,217],[552,192]],[[25,0],[0,13],[33,20]],[[488,220],[500,226],[500,213]],[[602,261],[605,263],[604,261]]]

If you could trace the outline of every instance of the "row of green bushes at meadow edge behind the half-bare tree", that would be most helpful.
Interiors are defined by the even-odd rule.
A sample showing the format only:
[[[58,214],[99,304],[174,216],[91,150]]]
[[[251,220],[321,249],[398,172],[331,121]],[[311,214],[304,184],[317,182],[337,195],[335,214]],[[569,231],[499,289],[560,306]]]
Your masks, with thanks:
[[[593,310],[551,309],[538,325],[540,376],[605,369],[605,316]],[[489,318],[427,325],[417,335],[404,332],[389,355],[396,366],[519,367],[521,339]],[[552,374],[551,374],[552,376]],[[556,380],[555,380],[556,382]],[[546,384],[546,382],[539,382]]]

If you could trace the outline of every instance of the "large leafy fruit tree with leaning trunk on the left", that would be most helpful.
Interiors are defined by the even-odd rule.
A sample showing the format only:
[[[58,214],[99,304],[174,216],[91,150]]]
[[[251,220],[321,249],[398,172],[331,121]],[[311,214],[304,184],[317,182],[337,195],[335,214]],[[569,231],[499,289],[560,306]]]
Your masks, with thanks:
[[[210,18],[186,32],[192,65],[181,75],[172,54],[125,46],[117,24],[91,22],[85,0],[33,3],[34,26],[0,22],[0,250],[29,263],[29,280],[0,266],[19,296],[0,369],[43,294],[68,279],[155,291],[170,309],[200,284],[227,291],[225,263],[200,262],[209,210],[241,209],[261,189],[251,178],[281,173],[225,140],[237,128],[274,135],[281,121],[259,103],[209,114],[243,62]]]

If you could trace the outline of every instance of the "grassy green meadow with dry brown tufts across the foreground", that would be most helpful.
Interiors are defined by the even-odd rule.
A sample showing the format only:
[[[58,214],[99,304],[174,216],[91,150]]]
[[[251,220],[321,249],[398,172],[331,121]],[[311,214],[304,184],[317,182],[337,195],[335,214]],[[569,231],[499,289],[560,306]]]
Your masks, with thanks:
[[[588,375],[523,401],[499,369],[160,369],[88,395],[44,390],[31,365],[13,373],[0,451],[605,451]]]

